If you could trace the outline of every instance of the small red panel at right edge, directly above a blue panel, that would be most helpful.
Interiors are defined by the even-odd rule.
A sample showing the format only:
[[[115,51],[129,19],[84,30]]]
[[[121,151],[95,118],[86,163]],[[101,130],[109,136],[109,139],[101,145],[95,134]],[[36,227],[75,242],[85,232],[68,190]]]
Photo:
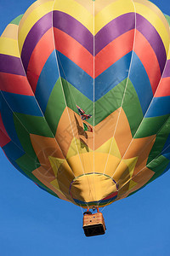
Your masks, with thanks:
[[[161,79],[155,97],[170,96],[170,78]]]

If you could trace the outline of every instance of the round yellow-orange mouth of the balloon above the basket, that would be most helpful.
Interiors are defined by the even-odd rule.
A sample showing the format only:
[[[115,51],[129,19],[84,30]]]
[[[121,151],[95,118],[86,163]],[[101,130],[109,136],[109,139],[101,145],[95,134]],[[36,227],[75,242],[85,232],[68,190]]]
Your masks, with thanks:
[[[104,207],[116,200],[118,184],[108,175],[92,172],[76,177],[69,191],[79,206]]]

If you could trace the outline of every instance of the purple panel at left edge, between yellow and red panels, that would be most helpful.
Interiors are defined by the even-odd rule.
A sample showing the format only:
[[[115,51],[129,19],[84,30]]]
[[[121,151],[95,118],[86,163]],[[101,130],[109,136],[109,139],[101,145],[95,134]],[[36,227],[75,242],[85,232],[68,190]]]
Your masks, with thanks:
[[[26,76],[20,58],[0,54],[0,72]]]

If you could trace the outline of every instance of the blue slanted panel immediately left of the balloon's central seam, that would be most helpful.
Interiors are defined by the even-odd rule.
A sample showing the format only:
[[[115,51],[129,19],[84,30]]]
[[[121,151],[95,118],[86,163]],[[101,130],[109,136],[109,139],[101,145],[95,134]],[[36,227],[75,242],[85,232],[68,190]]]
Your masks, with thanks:
[[[57,55],[60,76],[81,91],[89,100],[94,101],[94,79],[59,51]]]

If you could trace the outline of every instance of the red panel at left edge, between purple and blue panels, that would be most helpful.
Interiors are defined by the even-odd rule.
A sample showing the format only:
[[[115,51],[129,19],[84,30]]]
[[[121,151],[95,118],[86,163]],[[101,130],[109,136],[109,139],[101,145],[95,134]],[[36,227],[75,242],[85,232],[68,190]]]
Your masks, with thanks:
[[[31,86],[26,77],[10,73],[0,73],[0,90],[33,96]]]

